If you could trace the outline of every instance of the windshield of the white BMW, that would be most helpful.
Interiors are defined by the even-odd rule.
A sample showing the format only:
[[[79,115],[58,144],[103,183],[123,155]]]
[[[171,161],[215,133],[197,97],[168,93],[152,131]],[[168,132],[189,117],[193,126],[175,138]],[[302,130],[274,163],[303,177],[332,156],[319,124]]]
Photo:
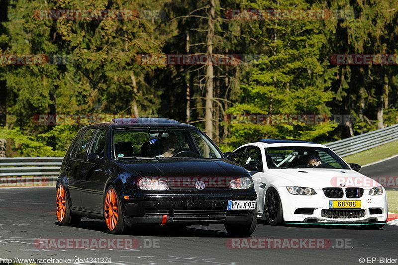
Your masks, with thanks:
[[[350,169],[341,158],[328,148],[272,147],[266,148],[265,154],[267,166],[270,169]],[[320,163],[318,163],[318,166],[311,166],[310,160]]]

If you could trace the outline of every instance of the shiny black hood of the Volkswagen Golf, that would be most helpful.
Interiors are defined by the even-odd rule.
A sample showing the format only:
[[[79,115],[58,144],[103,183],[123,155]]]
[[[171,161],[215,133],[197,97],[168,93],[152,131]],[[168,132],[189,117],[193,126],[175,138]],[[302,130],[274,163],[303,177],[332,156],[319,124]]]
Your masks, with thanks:
[[[137,177],[243,177],[248,172],[229,160],[154,159],[120,160]]]

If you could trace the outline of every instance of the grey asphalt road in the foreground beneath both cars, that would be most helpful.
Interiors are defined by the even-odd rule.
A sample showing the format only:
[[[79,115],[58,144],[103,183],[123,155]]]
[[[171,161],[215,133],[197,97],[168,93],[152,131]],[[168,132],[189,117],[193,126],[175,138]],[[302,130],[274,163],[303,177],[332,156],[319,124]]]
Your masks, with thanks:
[[[80,264],[125,265],[358,265],[361,264],[360,258],[365,259],[365,264],[370,263],[371,258],[376,259],[373,264],[380,264],[380,258],[398,259],[398,226],[393,225],[372,231],[357,226],[273,227],[259,222],[251,238],[234,241],[234,244],[255,247],[256,242],[263,242],[265,246],[275,244],[272,246],[277,249],[230,249],[228,246],[234,239],[228,236],[222,225],[194,225],[179,231],[167,227],[146,227],[128,231],[125,235],[107,234],[103,221],[86,218],[82,219],[79,227],[61,227],[56,224],[54,203],[54,187],[0,189],[0,259],[56,261],[65,258],[79,264],[76,259],[103,258],[102,261],[110,259],[111,262],[86,260]],[[129,249],[49,249],[51,241],[44,239],[133,239],[139,246]],[[273,241],[264,243],[265,239]],[[302,245],[286,239],[302,239],[299,243]],[[316,244],[313,239],[317,240]],[[251,245],[248,245],[248,240],[253,240]],[[40,242],[48,245],[40,245]],[[297,246],[303,249],[297,249]]]

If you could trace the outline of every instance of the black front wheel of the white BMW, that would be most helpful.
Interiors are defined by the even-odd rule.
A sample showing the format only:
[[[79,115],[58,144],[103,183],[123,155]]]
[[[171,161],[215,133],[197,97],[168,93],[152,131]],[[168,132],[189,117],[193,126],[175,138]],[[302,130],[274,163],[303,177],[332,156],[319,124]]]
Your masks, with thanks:
[[[278,191],[274,188],[269,188],[265,195],[264,215],[270,225],[281,225],[284,223],[281,198]]]

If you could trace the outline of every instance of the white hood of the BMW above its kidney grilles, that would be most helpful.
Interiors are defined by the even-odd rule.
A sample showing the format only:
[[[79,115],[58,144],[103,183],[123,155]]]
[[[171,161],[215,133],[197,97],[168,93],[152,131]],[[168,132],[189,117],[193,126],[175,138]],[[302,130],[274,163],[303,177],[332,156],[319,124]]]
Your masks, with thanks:
[[[345,173],[344,173],[345,172]],[[267,176],[275,177],[278,186],[300,186],[310,187],[313,189],[322,189],[325,187],[339,187],[339,183],[348,178],[352,179],[363,179],[369,178],[359,172],[353,170],[338,170],[338,169],[269,169],[266,173]],[[354,181],[348,183],[354,183]],[[347,182],[344,182],[347,183]],[[376,182],[377,183],[377,182]],[[347,185],[347,187],[353,185]],[[359,187],[362,187],[360,185]]]

